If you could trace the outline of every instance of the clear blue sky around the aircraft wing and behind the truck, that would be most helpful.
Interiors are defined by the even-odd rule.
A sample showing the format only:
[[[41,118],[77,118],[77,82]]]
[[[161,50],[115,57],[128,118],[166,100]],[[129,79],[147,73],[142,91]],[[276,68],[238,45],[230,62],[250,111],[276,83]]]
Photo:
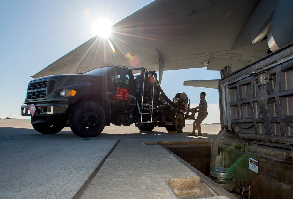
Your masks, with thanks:
[[[30,77],[93,36],[93,22],[108,18],[115,24],[151,0],[9,0],[0,1],[0,117],[25,118],[20,107]],[[89,15],[91,13],[91,15]],[[184,80],[219,79],[219,71],[205,68],[164,71],[162,89],[173,99],[185,92],[191,107],[206,92],[209,115],[203,123],[218,123],[216,89],[183,86]]]

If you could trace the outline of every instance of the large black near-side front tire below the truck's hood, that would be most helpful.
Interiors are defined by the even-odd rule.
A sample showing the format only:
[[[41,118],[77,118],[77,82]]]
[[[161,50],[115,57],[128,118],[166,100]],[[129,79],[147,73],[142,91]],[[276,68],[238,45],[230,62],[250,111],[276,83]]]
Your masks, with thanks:
[[[96,137],[105,125],[105,110],[97,102],[79,102],[69,114],[69,127],[79,137]]]

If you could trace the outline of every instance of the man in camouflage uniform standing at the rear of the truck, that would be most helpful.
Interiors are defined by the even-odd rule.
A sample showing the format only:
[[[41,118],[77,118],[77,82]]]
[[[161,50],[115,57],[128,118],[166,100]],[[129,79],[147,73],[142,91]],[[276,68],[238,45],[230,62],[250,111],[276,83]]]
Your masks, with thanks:
[[[197,110],[199,109],[199,110]],[[202,123],[202,120],[204,120],[208,113],[207,113],[207,101],[205,101],[205,92],[200,93],[200,104],[193,108],[195,112],[198,112],[197,117],[195,118],[192,126],[192,132],[188,135],[194,135],[194,136],[202,136],[200,130],[200,124]],[[198,134],[195,134],[195,129],[197,129]]]

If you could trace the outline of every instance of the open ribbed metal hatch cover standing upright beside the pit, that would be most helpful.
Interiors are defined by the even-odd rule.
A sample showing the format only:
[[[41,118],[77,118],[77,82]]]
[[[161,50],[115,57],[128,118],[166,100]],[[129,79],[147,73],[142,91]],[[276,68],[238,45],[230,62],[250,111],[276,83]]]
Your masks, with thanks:
[[[293,146],[293,44],[219,81],[224,137]]]

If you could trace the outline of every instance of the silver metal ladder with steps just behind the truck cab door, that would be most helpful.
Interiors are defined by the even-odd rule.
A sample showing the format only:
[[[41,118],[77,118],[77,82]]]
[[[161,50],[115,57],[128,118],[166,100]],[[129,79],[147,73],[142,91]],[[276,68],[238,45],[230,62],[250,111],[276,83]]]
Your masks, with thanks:
[[[152,83],[153,84],[153,89],[152,89],[151,98],[145,97],[144,96],[145,70],[147,70],[147,69],[143,68],[143,70],[142,70],[143,76],[144,76],[143,82],[142,82],[142,102],[139,105],[138,100],[136,101],[137,102],[138,111],[139,111],[139,114],[140,114],[140,122],[139,123],[142,123],[142,124],[143,123],[152,123],[153,122],[153,106],[154,106],[155,75],[153,75],[154,81]],[[149,102],[145,101],[145,99],[149,99]],[[151,116],[151,120],[149,120],[149,121],[142,121],[143,115],[150,115]]]

